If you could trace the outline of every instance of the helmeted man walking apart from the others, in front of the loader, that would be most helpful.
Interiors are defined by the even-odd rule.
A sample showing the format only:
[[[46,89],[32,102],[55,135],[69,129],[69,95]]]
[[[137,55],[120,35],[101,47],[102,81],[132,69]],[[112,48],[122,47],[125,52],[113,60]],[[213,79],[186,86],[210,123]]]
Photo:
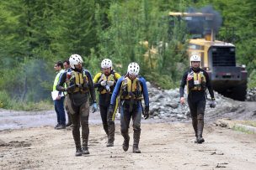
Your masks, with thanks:
[[[205,142],[203,138],[204,115],[206,95],[205,90],[208,89],[211,95],[211,107],[216,106],[214,93],[211,87],[211,80],[207,72],[200,69],[200,56],[192,55],[190,57],[190,69],[186,71],[181,80],[179,87],[180,103],[184,104],[184,86],[187,85],[188,104],[192,117],[192,125],[195,131],[195,142]]]

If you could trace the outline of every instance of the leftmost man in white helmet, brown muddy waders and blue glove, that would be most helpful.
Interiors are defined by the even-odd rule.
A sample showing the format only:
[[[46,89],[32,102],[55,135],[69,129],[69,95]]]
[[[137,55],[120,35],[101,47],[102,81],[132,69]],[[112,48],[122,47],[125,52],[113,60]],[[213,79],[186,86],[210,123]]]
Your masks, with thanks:
[[[59,91],[67,91],[67,107],[72,118],[72,135],[76,145],[76,156],[89,154],[88,151],[88,117],[89,94],[93,100],[93,112],[97,111],[93,79],[88,70],[82,67],[83,59],[78,54],[72,54],[69,58],[71,70],[64,72],[56,85]],[[66,83],[67,88],[64,87]],[[80,142],[80,123],[82,126],[82,147]]]

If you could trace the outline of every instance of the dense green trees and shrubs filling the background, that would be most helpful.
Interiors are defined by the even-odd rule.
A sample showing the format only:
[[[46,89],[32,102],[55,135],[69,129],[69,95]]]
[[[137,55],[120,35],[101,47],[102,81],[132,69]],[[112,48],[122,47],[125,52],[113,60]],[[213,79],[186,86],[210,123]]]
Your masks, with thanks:
[[[189,67],[189,34],[170,28],[169,12],[220,14],[216,38],[235,44],[248,88],[256,86],[254,0],[3,0],[0,9],[0,108],[51,103],[53,66],[71,54],[80,54],[93,76],[102,59],[111,59],[122,75],[135,61],[152,85],[179,87]]]

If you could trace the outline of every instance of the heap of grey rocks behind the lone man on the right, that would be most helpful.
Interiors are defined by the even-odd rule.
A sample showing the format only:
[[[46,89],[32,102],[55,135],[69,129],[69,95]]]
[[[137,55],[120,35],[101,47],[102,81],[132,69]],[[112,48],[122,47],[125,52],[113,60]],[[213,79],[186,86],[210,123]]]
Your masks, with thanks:
[[[185,102],[185,105],[179,103],[178,88],[173,90],[161,90],[152,87],[149,82],[147,82],[147,88],[150,101],[150,117],[152,119],[168,119],[168,121],[187,121],[190,119],[190,111],[187,101]],[[187,99],[186,92],[184,97]],[[220,108],[221,110],[223,108],[223,111],[229,111],[234,107],[232,100],[215,92],[217,106],[214,109],[210,109],[209,101],[211,97],[209,94],[208,98],[209,100],[206,100],[205,114],[217,112],[216,110],[220,110]]]

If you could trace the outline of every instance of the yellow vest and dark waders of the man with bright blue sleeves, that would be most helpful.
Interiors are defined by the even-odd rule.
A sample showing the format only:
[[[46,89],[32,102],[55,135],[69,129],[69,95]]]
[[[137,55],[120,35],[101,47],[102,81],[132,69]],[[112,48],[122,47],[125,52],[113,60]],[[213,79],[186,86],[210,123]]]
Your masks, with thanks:
[[[141,99],[142,99],[142,88],[140,80],[130,80],[125,78],[121,86],[121,107],[123,112],[123,124],[121,125],[121,134],[124,137],[123,150],[126,152],[129,148],[129,124],[132,116],[133,120],[133,152],[141,153],[139,149],[139,142],[141,137]]]

